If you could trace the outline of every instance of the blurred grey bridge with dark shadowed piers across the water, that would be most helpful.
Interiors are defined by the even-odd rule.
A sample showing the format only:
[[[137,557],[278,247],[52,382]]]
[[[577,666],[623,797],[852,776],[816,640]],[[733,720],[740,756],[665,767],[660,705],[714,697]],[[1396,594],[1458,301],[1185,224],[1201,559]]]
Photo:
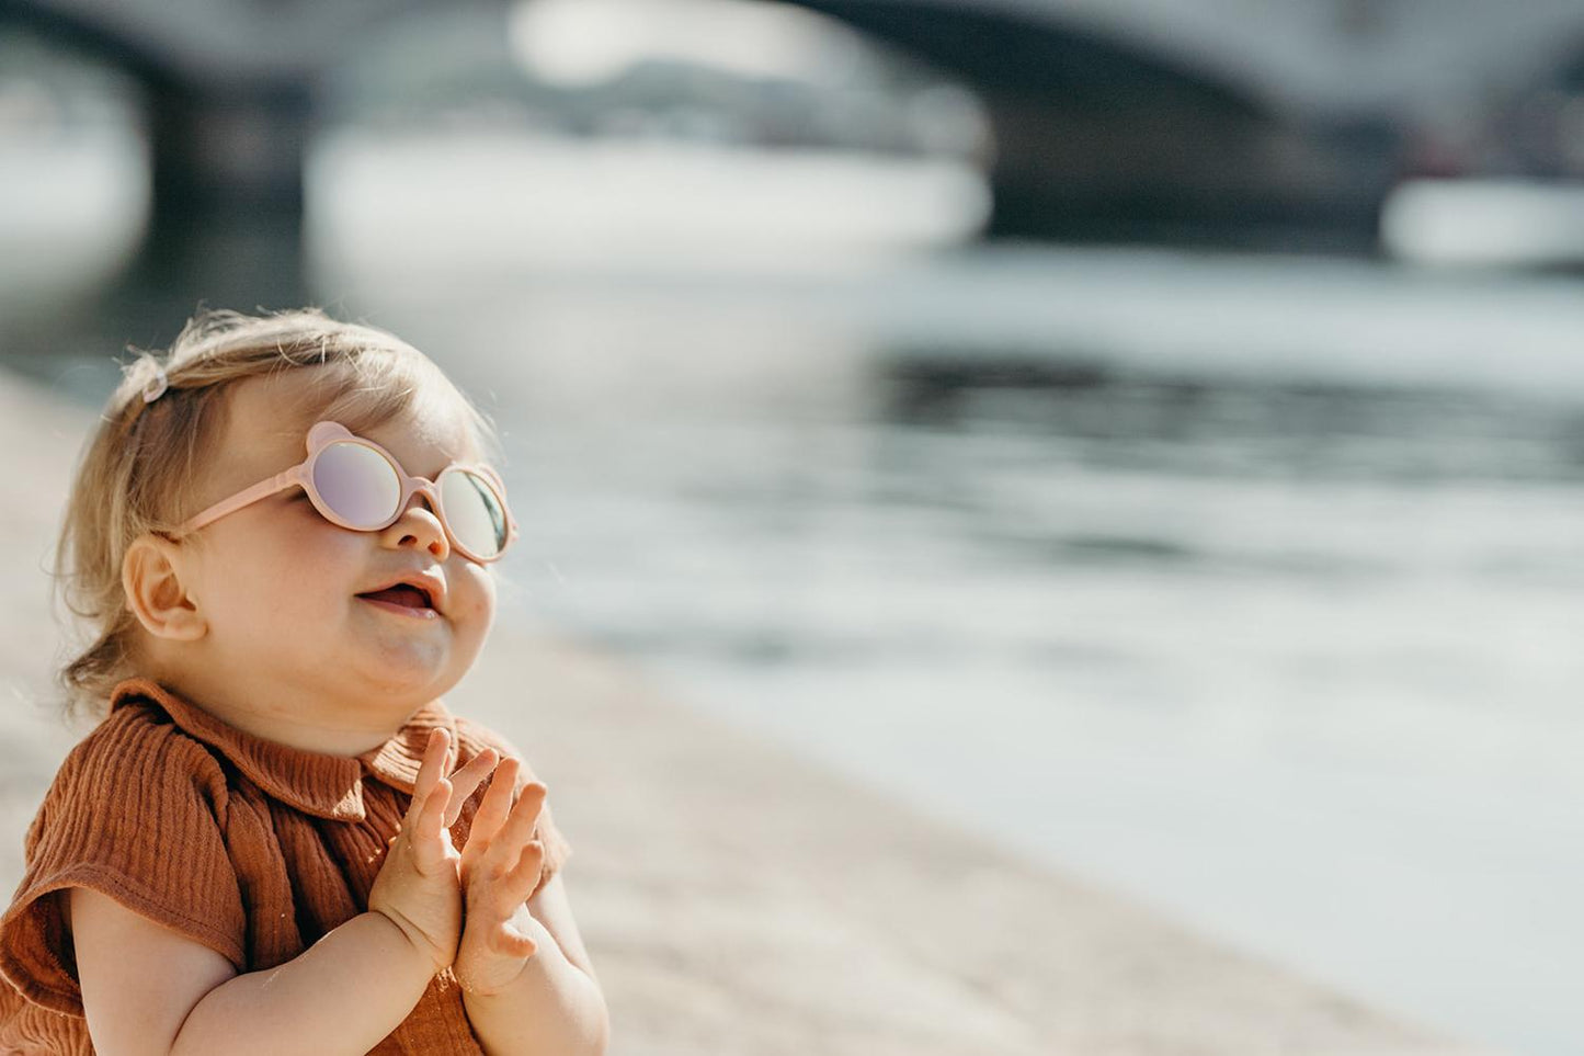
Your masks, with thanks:
[[[1413,130],[1475,90],[1574,57],[1584,40],[1578,0],[1525,0],[1522,17],[1500,0],[795,2],[979,94],[996,141],[992,236],[1367,249]],[[0,0],[0,19],[143,82],[147,289],[184,287],[217,224],[268,217],[236,236],[257,265],[246,289],[261,292],[244,300],[290,303],[304,298],[291,233],[320,75],[375,24],[439,6]]]

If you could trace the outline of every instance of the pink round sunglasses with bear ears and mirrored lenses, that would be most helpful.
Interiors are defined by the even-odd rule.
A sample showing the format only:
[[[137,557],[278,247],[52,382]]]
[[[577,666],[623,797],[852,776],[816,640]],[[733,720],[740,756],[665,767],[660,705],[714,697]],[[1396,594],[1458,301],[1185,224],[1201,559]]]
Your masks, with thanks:
[[[451,463],[434,480],[415,477],[388,450],[339,422],[320,422],[307,431],[307,458],[301,463],[215,503],[184,522],[177,534],[198,531],[295,485],[307,492],[325,520],[353,531],[394,525],[413,493],[421,493],[451,545],[474,561],[497,560],[518,534],[505,484],[489,466]]]

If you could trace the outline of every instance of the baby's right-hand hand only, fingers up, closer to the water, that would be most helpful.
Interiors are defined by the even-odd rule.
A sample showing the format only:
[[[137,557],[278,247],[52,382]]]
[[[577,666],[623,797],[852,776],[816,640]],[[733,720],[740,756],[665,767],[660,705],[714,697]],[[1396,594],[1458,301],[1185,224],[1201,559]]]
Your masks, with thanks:
[[[451,972],[474,994],[505,989],[540,943],[553,942],[526,905],[545,861],[543,844],[532,839],[545,786],[531,782],[513,807],[518,769],[512,756],[496,767],[463,848],[467,923]]]

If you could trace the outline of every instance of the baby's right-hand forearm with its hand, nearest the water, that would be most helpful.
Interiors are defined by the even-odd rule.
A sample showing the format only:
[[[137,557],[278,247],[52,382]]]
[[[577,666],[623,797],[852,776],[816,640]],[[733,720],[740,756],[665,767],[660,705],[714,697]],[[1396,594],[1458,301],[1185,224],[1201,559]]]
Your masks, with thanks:
[[[529,783],[513,805],[516,771],[515,758],[501,763],[463,848],[467,909],[451,970],[489,1056],[604,1053],[605,997],[561,877],[527,897],[543,864],[532,836],[545,786]]]

